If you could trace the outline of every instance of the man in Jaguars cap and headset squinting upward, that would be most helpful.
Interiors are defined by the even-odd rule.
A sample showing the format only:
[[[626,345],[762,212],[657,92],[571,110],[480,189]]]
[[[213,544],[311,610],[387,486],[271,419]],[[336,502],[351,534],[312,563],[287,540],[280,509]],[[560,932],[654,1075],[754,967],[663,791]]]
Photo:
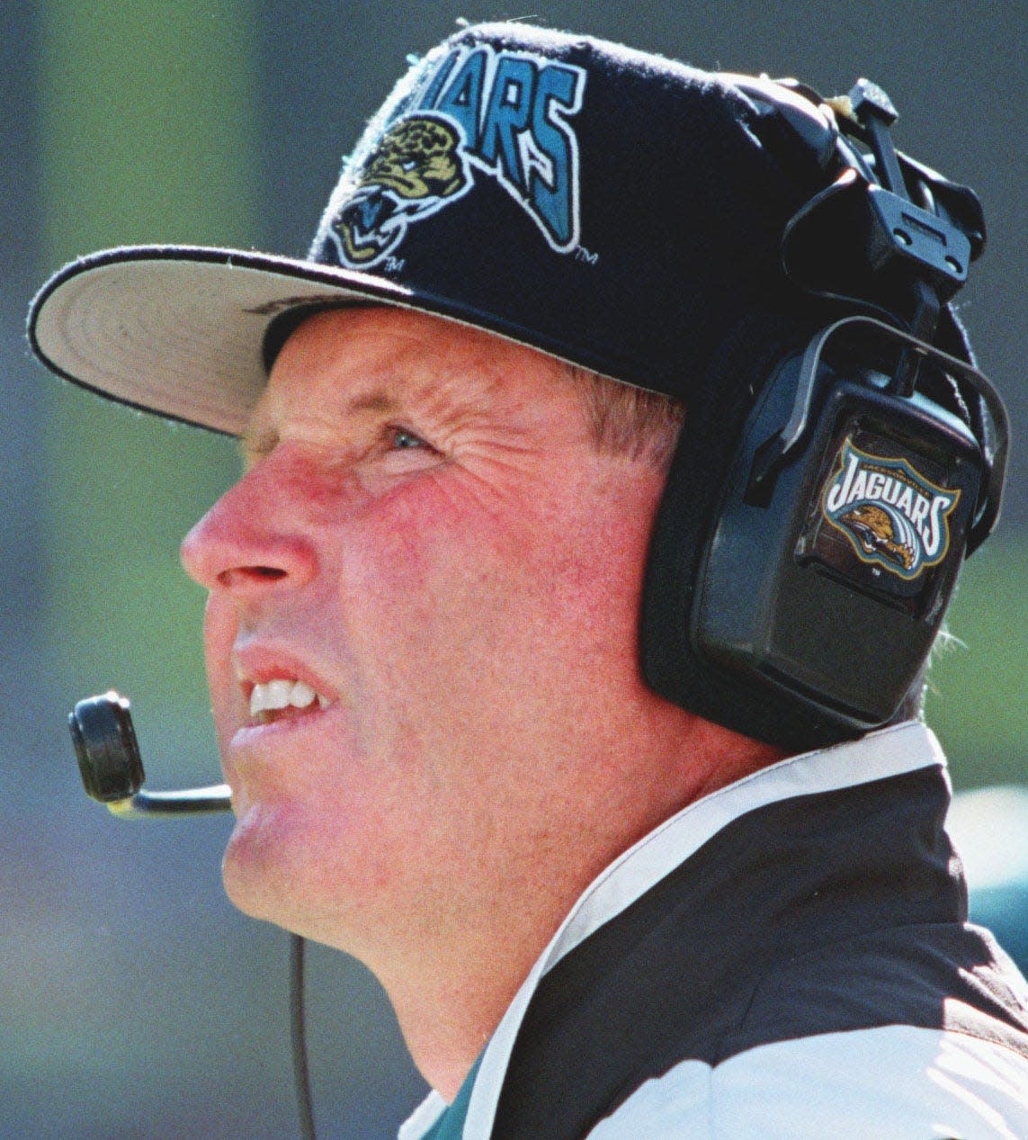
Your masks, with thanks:
[[[998,508],[946,306],[984,231],[889,121],[472,27],[308,261],[36,299],[50,367],[242,437],[183,545],[226,887],[382,980],[406,1140],[1028,1135],[1028,994],[905,719]]]

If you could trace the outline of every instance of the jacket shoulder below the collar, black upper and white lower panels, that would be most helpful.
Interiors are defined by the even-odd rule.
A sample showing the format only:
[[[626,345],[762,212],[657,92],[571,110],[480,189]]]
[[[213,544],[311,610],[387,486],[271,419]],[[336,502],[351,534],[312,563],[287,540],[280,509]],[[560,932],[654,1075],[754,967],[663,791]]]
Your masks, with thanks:
[[[1028,994],[990,936],[892,929],[776,963],[702,1057],[589,1140],[1028,1138]]]

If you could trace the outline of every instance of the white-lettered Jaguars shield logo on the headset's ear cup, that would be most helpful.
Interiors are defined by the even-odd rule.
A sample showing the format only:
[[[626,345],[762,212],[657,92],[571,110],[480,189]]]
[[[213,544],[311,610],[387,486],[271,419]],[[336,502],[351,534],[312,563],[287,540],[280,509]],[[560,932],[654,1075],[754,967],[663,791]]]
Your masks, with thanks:
[[[906,581],[941,562],[960,490],[937,487],[909,461],[871,455],[843,441],[822,512],[857,557]]]

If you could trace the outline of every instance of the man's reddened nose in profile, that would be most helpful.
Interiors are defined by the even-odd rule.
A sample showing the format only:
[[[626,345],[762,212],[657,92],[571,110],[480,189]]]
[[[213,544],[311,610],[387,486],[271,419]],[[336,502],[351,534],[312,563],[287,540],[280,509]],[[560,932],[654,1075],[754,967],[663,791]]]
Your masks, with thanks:
[[[209,591],[240,600],[302,586],[317,561],[302,512],[289,508],[270,470],[258,464],[182,540],[186,572]]]

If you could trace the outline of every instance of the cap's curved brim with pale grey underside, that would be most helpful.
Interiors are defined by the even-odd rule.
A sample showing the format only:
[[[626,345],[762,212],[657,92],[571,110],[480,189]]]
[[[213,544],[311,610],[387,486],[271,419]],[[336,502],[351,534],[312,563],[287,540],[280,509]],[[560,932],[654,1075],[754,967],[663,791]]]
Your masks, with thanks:
[[[52,277],[32,303],[28,337],[49,368],[76,384],[238,435],[268,378],[263,342],[275,317],[369,300],[471,316],[385,278],[310,261],[138,246],[83,258]]]

